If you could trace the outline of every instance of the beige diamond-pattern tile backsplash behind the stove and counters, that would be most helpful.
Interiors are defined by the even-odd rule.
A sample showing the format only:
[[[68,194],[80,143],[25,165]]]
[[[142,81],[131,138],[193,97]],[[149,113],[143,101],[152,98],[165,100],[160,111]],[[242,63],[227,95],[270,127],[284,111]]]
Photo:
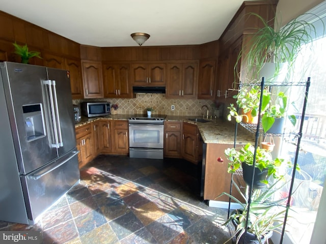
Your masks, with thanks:
[[[117,104],[118,114],[146,114],[146,108],[152,107],[153,114],[167,115],[192,115],[199,116],[206,113],[206,105],[209,109],[209,115],[219,117],[219,110],[211,100],[198,99],[166,99],[165,94],[136,94],[136,98],[110,98],[110,99],[87,99],[87,100],[72,100],[73,104],[78,105],[80,102],[88,101],[107,101],[112,104]],[[171,110],[171,105],[175,106],[175,110]],[[221,113],[222,114],[222,113]]]

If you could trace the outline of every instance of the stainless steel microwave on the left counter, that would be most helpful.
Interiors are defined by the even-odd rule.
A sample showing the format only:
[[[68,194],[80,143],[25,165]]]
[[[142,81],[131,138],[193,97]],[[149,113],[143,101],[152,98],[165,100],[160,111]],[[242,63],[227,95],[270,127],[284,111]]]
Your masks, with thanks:
[[[87,117],[106,116],[111,113],[111,103],[107,102],[83,102],[80,104],[80,108],[82,109],[82,114]]]

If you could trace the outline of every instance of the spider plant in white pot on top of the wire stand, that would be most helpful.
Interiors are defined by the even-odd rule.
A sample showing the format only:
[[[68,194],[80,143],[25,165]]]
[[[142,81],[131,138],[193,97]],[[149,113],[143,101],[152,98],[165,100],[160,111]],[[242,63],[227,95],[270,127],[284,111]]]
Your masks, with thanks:
[[[262,27],[251,28],[254,34],[249,44],[238,55],[238,60],[242,59],[245,65],[246,79],[252,82],[255,79],[260,80],[264,76],[266,82],[275,82],[275,78],[283,72],[283,66],[285,66],[284,80],[288,68],[290,70],[293,68],[295,58],[300,53],[302,45],[311,43],[316,36],[314,24],[302,20],[302,15],[284,26],[280,26],[275,20],[273,22],[266,21],[256,13],[249,13],[249,15],[256,17]],[[318,18],[323,24],[318,16],[309,15]],[[234,71],[238,70],[236,65]],[[280,81],[283,80],[280,79]]]

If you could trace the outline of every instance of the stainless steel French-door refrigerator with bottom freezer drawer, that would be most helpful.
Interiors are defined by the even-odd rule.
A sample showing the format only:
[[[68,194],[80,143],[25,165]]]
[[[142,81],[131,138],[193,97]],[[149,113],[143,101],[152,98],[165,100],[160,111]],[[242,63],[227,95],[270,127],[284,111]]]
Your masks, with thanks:
[[[0,63],[0,220],[35,224],[79,181],[69,72]]]

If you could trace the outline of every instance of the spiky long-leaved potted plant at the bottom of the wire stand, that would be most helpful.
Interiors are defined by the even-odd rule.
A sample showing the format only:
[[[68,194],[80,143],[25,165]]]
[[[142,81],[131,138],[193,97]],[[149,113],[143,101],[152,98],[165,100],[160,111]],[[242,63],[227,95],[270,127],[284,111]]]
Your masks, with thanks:
[[[273,232],[280,232],[280,228],[283,225],[284,214],[286,207],[282,205],[285,202],[286,196],[281,196],[280,190],[284,187],[286,182],[281,177],[271,185],[268,185],[265,189],[255,189],[251,195],[251,203],[249,198],[244,195],[240,188],[237,186],[234,180],[232,180],[234,188],[239,192],[242,199],[237,199],[229,193],[222,193],[220,196],[227,195],[240,205],[240,208],[234,210],[229,219],[224,223],[227,225],[232,223],[235,226],[235,232],[230,237],[236,237],[237,243],[260,243],[263,244],[265,241],[268,243],[268,238],[273,235]],[[277,196],[275,196],[278,194]],[[218,196],[217,198],[219,198]],[[249,219],[248,219],[248,209]],[[246,221],[248,219],[248,228],[246,237]],[[225,243],[227,243],[228,239]],[[244,240],[243,240],[244,239]]]

